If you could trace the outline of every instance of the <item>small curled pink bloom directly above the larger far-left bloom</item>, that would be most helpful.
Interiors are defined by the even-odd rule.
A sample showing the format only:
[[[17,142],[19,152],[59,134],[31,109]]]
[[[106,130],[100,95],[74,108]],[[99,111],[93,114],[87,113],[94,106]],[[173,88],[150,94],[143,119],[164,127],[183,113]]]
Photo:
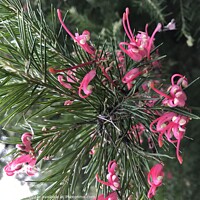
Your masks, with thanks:
[[[31,146],[32,137],[33,135],[31,133],[28,133],[28,132],[24,133],[21,137],[23,144],[17,144],[16,148],[24,152],[30,152],[32,150],[32,146]]]

